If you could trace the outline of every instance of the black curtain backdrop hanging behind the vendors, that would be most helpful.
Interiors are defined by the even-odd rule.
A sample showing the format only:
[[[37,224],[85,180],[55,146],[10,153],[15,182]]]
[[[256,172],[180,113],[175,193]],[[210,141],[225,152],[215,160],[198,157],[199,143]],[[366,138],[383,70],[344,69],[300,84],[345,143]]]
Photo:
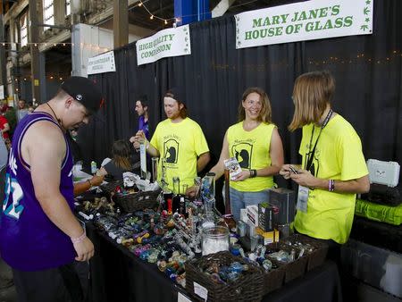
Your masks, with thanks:
[[[288,4],[294,1],[283,1]],[[278,1],[275,4],[279,4]],[[362,138],[366,159],[402,164],[402,1],[374,2],[373,35],[328,38],[272,46],[235,48],[233,16],[190,24],[191,55],[137,66],[136,47],[114,51],[116,72],[91,76],[105,95],[105,108],[79,133],[86,162],[99,164],[110,155],[113,140],[137,131],[136,97],[147,94],[151,133],[165,118],[163,93],[183,88],[189,116],[205,132],[215,164],[222,138],[237,122],[247,87],[264,88],[272,102],[285,161],[300,162],[300,131],[290,133],[294,80],[306,71],[329,70],[337,81],[333,106]]]

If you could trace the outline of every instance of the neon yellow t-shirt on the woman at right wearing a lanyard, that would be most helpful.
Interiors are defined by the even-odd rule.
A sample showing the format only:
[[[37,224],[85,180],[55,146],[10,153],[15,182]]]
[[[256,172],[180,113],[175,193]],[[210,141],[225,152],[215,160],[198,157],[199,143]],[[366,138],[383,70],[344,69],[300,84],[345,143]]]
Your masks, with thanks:
[[[306,155],[313,150],[321,128],[315,127],[310,147],[312,130],[313,124],[303,127],[299,154],[303,156],[304,168]],[[356,180],[368,174],[360,138],[352,125],[339,114],[322,130],[312,166],[314,176],[325,180]],[[355,204],[356,194],[310,189],[307,212],[297,211],[295,228],[317,239],[345,243],[352,228]]]

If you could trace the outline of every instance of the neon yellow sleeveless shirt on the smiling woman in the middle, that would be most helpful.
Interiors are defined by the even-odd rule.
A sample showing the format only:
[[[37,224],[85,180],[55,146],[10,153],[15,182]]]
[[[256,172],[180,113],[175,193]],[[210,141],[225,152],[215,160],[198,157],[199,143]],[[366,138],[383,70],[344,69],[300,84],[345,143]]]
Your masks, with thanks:
[[[275,125],[260,123],[255,129],[246,131],[243,122],[228,129],[230,157],[236,157],[243,170],[263,169],[271,165],[270,146]],[[257,176],[243,181],[230,181],[230,187],[241,192],[258,192],[273,187],[272,176]]]

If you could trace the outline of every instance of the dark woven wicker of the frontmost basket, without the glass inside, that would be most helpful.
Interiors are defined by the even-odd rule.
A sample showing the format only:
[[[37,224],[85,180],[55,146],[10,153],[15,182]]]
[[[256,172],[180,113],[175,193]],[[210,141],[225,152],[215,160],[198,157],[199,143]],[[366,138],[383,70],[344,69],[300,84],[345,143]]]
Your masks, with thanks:
[[[210,264],[230,265],[232,262],[247,264],[239,256],[232,256],[229,252],[219,252],[212,255],[188,261],[186,267],[186,289],[193,298],[204,301],[196,294],[197,284],[207,290],[208,301],[260,301],[263,297],[264,273],[261,268],[248,264],[248,271],[243,273],[238,281],[218,284],[206,273],[200,272],[199,266],[207,267]],[[196,290],[195,290],[195,283]]]

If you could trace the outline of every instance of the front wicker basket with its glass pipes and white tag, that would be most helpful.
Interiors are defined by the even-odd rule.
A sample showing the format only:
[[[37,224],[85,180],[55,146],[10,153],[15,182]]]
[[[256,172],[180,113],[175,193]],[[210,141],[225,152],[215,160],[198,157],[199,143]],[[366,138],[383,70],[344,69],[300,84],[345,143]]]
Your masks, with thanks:
[[[198,301],[260,301],[264,273],[229,252],[218,252],[185,264],[186,289]]]

